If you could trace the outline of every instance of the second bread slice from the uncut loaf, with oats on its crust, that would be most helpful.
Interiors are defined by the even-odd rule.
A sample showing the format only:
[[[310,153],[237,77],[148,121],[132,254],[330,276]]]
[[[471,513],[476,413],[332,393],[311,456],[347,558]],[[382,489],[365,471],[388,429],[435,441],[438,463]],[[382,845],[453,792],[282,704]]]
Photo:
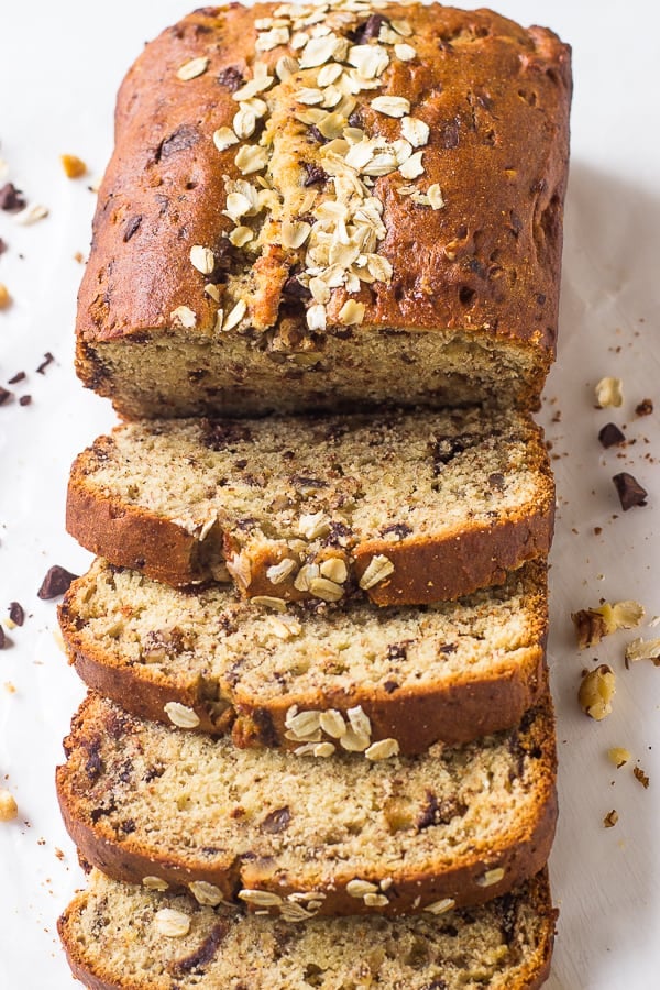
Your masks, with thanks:
[[[342,718],[326,716],[330,734],[307,736],[340,747],[359,706],[367,745],[421,752],[509,728],[547,683],[539,561],[455,603],[376,610],[353,597],[273,613],[219,585],[175,590],[97,560],[59,623],[90,688],[145,718],[231,732],[239,746],[297,748],[292,718],[331,710]]]

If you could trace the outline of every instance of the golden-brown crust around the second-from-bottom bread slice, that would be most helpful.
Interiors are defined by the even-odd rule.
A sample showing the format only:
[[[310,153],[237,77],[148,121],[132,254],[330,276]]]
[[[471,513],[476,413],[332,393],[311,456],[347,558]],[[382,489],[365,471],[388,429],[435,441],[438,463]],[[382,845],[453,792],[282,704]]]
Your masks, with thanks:
[[[194,848],[182,849],[180,856],[175,857],[161,853],[155,846],[144,848],[132,833],[119,837],[102,815],[92,813],[87,779],[84,780],[85,773],[76,771],[74,763],[80,762],[78,751],[80,755],[94,754],[98,761],[99,734],[102,737],[106,733],[130,733],[135,730],[135,725],[128,715],[122,717],[121,725],[117,725],[116,710],[100,710],[99,714],[98,708],[94,695],[81,705],[72,723],[72,734],[64,743],[69,761],[58,767],[56,773],[65,826],[87,862],[113,879],[132,883],[141,883],[145,876],[158,877],[174,890],[184,889],[193,881],[206,881],[218,887],[227,901],[234,901],[241,888],[272,891],[283,898],[305,890],[301,879],[282,869],[276,857],[256,859],[249,854],[234,856],[221,849],[215,849],[213,856],[209,857]],[[102,724],[103,717],[107,726]],[[88,718],[90,725],[87,725]],[[425,906],[446,898],[451,898],[458,906],[484,903],[508,892],[544,866],[557,823],[557,754],[550,701],[526,721],[527,728],[521,732],[521,738],[525,748],[537,756],[534,814],[525,821],[518,820],[502,845],[488,850],[487,860],[475,851],[463,857],[462,862],[439,861],[432,873],[407,869],[403,860],[396,866],[388,864],[387,875],[394,879],[396,897],[391,895],[387,905],[377,909],[378,913],[388,916],[420,913]],[[210,858],[213,862],[209,862]],[[502,868],[502,877],[497,882],[484,886],[484,875],[493,867]],[[354,879],[354,869],[351,864],[343,868],[337,864],[332,886],[322,888],[326,897],[319,915],[373,913],[373,909],[346,891],[346,884]],[[364,876],[363,879],[377,882],[383,878]]]

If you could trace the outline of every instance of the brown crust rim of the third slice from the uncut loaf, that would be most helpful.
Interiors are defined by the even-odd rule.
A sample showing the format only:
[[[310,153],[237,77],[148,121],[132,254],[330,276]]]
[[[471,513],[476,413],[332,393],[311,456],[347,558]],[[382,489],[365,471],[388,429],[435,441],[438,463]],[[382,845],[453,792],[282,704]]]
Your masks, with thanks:
[[[289,872],[286,867],[279,866],[274,853],[262,854],[260,857],[249,849],[237,854],[227,848],[213,847],[209,851],[196,846],[195,835],[177,845],[176,851],[174,847],[165,850],[153,838],[146,842],[141,839],[140,831],[144,832],[146,823],[139,822],[139,831],[135,833],[136,823],[132,818],[129,820],[130,827],[118,832],[108,822],[107,814],[92,806],[94,799],[89,788],[90,781],[98,782],[106,772],[105,741],[114,737],[121,738],[125,744],[133,734],[140,737],[141,751],[146,750],[147,739],[158,735],[155,729],[150,730],[147,723],[136,723],[132,716],[125,715],[110,703],[90,695],[73,721],[72,734],[64,744],[68,761],[57,769],[56,774],[64,823],[82,859],[117,880],[141,883],[144,877],[157,877],[175,891],[184,890],[191,882],[205,881],[217,887],[226,901],[235,903],[240,903],[237,898],[241,889],[268,891],[279,899],[300,892],[311,893],[314,890],[317,894],[322,894],[318,914],[326,916],[374,913],[373,906],[351,897],[348,884],[356,876],[376,884],[387,877],[393,881],[394,895],[387,899],[386,904],[378,904],[375,911],[387,916],[398,916],[420,913],[430,904],[448,898],[457,906],[469,906],[505,894],[542,869],[552,845],[557,822],[557,755],[549,700],[546,707],[537,708],[526,727],[520,729],[526,751],[534,754],[535,758],[534,771],[530,770],[535,773],[531,784],[534,800],[528,802],[524,816],[518,817],[515,823],[512,821],[506,838],[502,839],[497,848],[484,845],[483,839],[480,844],[475,836],[470,850],[465,850],[462,856],[452,853],[447,859],[437,859],[433,868],[421,870],[399,859],[382,864],[378,870],[370,869],[367,872],[369,868],[360,869],[354,861],[338,861],[333,857],[328,875],[331,880],[317,880],[312,889],[305,886],[308,881],[304,877],[294,876],[293,868]],[[174,741],[174,737],[172,740]],[[158,743],[155,745],[157,747]],[[130,779],[131,760],[128,756],[127,759],[125,772]],[[166,759],[172,759],[172,752],[168,752]],[[340,758],[332,758],[337,759]],[[416,759],[431,760],[432,757]],[[260,755],[260,760],[265,760],[265,757]],[[262,766],[263,773],[267,777],[265,763]],[[396,768],[405,774],[404,761],[397,761]],[[386,772],[396,776],[397,770],[388,768]],[[271,779],[271,782],[276,788],[278,777]],[[112,780],[103,783],[103,790],[110,796],[112,787]],[[278,793],[278,798],[282,800],[283,794]],[[240,824],[237,829],[240,832]],[[245,839],[238,838],[239,832],[235,840],[240,846]],[[322,870],[319,872],[316,866],[315,876],[322,876]],[[276,914],[278,908],[270,910]]]

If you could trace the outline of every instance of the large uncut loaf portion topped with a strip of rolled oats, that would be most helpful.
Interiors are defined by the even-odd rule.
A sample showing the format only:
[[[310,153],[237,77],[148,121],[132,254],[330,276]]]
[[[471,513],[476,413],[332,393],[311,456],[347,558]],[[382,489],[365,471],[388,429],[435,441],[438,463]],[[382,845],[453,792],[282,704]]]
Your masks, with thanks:
[[[117,106],[77,367],[128,418],[538,404],[570,50],[440,4],[202,8]]]

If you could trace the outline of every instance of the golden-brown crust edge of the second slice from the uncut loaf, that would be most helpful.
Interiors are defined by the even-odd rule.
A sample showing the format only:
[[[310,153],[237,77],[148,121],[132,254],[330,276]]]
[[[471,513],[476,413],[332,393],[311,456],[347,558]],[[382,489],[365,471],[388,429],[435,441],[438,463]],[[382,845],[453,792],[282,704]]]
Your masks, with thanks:
[[[373,743],[394,738],[403,754],[415,755],[438,741],[469,743],[517,725],[525,712],[540,702],[548,688],[546,607],[539,596],[539,642],[530,645],[524,661],[512,661],[505,669],[499,666],[490,678],[475,678],[465,672],[452,684],[425,685],[417,690],[403,688],[395,693],[358,686],[352,693],[327,690],[319,697],[318,693],[289,691],[272,697],[268,704],[260,704],[240,690],[232,696],[229,685],[224,685],[223,701],[228,707],[218,718],[216,702],[205,697],[201,678],[190,674],[185,680],[175,672],[163,675],[148,664],[122,663],[100,646],[95,649],[77,627],[70,608],[74,593],[75,587],[59,606],[59,625],[69,661],[88,688],[133,715],[166,725],[170,723],[165,705],[178,702],[197,714],[199,732],[212,735],[231,732],[239,747],[295,749],[298,744],[285,737],[286,715],[292,705],[300,711],[338,708],[341,712],[360,705],[371,721]]]

